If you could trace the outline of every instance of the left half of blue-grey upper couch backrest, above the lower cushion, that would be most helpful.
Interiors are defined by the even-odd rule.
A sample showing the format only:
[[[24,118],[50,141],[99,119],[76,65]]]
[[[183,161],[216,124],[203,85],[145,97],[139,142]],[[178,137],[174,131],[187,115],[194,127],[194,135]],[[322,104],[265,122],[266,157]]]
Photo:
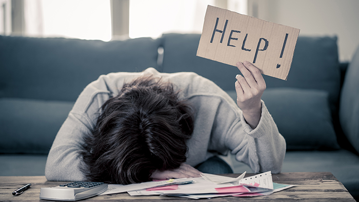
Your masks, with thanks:
[[[101,74],[156,68],[159,41],[0,36],[0,97],[75,101]]]

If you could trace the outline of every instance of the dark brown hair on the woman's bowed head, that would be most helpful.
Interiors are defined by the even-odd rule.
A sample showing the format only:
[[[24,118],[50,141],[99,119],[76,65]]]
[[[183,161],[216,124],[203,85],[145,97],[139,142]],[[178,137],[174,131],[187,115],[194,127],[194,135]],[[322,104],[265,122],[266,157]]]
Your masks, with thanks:
[[[139,183],[150,180],[156,169],[174,169],[184,163],[193,110],[177,95],[172,84],[142,76],[107,100],[80,152],[87,179]]]

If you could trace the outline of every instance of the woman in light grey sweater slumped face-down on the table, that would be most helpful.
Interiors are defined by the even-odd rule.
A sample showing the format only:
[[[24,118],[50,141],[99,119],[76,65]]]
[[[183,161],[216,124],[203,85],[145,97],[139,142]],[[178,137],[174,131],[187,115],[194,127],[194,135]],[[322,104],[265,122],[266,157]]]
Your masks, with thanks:
[[[281,172],[286,144],[261,100],[263,76],[249,62],[237,68],[243,76],[236,75],[236,104],[195,73],[148,68],[100,76],[57,133],[47,179],[130,184],[198,177],[216,167],[227,172],[213,156],[228,151],[254,172]]]

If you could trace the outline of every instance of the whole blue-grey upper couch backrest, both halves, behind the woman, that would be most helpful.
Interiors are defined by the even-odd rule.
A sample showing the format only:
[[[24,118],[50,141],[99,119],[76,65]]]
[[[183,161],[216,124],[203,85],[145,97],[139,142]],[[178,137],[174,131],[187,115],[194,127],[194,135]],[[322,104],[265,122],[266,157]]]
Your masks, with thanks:
[[[65,38],[0,36],[0,97],[74,101],[101,74],[142,71],[193,71],[222,89],[234,90],[236,67],[196,56],[200,34],[162,38],[86,41]],[[157,67],[157,49],[164,48]],[[331,105],[340,92],[336,37],[298,37],[287,80],[264,76],[267,88],[294,87],[329,92]],[[232,80],[232,82],[230,82]]]

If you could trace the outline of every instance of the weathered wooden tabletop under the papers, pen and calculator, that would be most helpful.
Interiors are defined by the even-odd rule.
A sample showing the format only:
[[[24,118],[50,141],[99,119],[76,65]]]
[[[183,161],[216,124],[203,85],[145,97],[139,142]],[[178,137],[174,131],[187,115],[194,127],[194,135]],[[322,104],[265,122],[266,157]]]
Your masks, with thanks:
[[[254,174],[246,174],[246,177]],[[237,177],[239,174],[226,174],[226,176]],[[272,174],[273,182],[295,187],[275,192],[268,196],[256,197],[217,197],[212,199],[199,199],[197,201],[353,201],[343,184],[330,172],[296,172]],[[12,192],[25,184],[31,183],[30,189],[23,194],[13,196]],[[0,176],[0,201],[39,201],[40,188],[55,187],[63,182],[47,181],[45,176]],[[169,197],[169,196],[130,196],[128,193],[109,194],[95,196],[86,200],[92,201],[195,201],[195,199]],[[49,200],[42,200],[49,201]],[[83,200],[81,200],[83,201]]]

